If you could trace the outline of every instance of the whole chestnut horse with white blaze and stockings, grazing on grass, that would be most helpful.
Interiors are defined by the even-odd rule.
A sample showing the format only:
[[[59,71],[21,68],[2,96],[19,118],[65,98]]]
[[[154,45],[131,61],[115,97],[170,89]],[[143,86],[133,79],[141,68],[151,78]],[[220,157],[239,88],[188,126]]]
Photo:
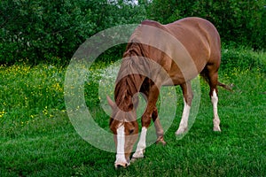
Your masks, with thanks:
[[[114,99],[107,96],[113,113],[110,129],[116,145],[115,167],[128,166],[130,153],[138,138],[137,93],[147,103],[142,115],[141,135],[133,158],[144,158],[145,136],[153,119],[157,142],[165,144],[156,102],[161,86],[180,85],[184,96],[184,112],[176,135],[188,127],[192,105],[191,80],[199,73],[210,87],[214,111],[214,131],[221,131],[217,112],[217,86],[221,63],[220,36],[206,19],[185,18],[168,25],[152,20],[143,21],[129,39],[116,80]]]

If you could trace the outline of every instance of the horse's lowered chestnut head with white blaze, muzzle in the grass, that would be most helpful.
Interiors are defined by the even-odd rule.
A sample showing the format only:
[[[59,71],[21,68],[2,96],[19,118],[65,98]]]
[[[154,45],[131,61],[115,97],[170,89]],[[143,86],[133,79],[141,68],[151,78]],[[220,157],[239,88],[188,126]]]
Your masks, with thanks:
[[[131,108],[124,110],[117,106],[109,96],[107,96],[107,101],[113,110],[109,127],[113,132],[113,140],[116,146],[114,165],[116,168],[119,166],[126,167],[130,164],[130,153],[138,137],[136,107],[134,104],[129,104]]]

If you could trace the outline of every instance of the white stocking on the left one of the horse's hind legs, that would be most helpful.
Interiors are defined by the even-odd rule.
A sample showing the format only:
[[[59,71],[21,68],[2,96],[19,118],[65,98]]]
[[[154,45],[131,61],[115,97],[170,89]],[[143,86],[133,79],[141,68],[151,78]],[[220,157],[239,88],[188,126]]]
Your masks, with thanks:
[[[184,99],[184,110],[183,110],[182,119],[180,121],[179,127],[176,131],[176,135],[184,134],[184,132],[187,130],[190,111],[191,111],[191,106],[187,104]]]

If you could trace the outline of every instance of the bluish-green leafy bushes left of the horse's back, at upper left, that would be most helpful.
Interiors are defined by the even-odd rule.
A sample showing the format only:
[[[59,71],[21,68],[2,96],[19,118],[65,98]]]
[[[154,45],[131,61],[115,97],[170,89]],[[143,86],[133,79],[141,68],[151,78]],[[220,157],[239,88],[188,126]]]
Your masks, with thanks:
[[[0,63],[69,61],[91,35],[144,19],[136,6],[106,0],[3,0]],[[132,15],[135,14],[135,15]]]

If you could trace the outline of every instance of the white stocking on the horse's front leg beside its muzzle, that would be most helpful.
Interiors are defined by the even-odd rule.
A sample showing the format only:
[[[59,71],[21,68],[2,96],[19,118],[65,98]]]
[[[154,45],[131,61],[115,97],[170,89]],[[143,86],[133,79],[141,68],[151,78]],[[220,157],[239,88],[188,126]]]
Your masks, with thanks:
[[[145,148],[146,148],[146,134],[147,128],[142,127],[139,141],[137,143],[137,150],[133,154],[133,158],[144,158]]]

